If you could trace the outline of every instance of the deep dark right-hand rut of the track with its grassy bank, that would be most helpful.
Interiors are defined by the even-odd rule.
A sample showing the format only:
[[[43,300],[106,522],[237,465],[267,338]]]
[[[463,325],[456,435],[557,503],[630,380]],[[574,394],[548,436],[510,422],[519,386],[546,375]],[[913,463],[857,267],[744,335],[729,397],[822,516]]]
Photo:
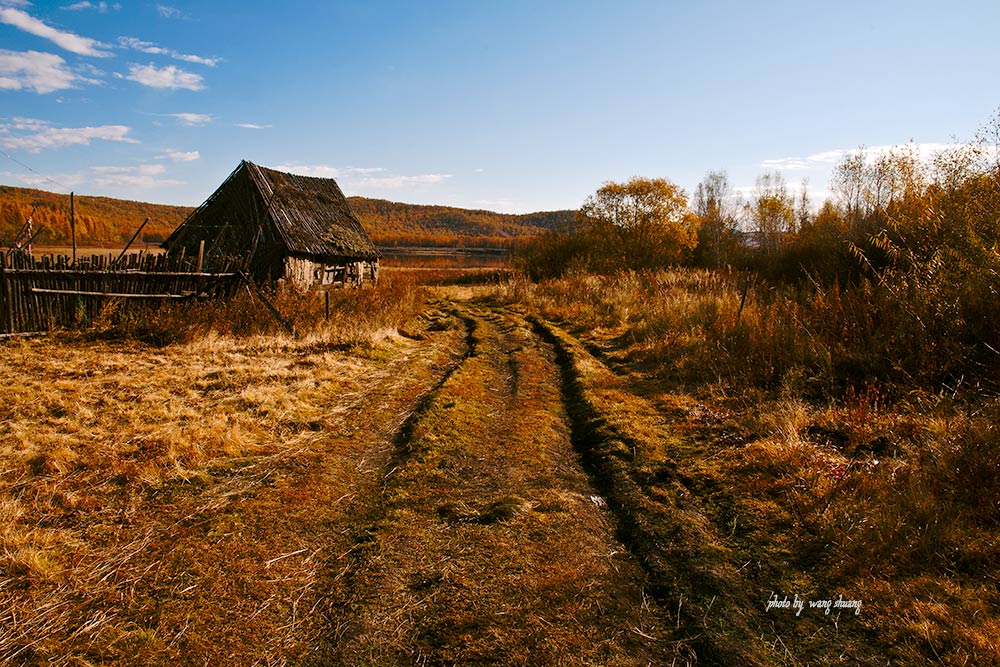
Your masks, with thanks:
[[[676,609],[675,641],[690,647],[692,664],[767,662],[748,619],[750,587],[698,498],[678,479],[670,454],[677,436],[577,340],[529,319],[555,346],[574,444],[607,495],[623,541],[660,602]]]

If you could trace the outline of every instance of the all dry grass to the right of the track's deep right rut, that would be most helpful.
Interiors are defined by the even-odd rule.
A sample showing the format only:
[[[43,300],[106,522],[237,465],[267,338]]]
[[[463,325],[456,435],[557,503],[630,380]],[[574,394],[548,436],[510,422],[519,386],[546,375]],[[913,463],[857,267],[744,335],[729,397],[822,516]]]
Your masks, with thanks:
[[[753,290],[741,310],[741,297],[738,281],[699,271],[494,291],[578,335],[597,355],[578,363],[616,372],[618,399],[600,381],[588,388],[595,404],[608,399],[606,419],[648,437],[639,394],[671,424],[655,441],[759,604],[750,622],[769,661],[1000,664],[1000,404],[853,385],[831,363],[844,350],[802,311]],[[765,612],[772,591],[843,594],[863,609]]]

